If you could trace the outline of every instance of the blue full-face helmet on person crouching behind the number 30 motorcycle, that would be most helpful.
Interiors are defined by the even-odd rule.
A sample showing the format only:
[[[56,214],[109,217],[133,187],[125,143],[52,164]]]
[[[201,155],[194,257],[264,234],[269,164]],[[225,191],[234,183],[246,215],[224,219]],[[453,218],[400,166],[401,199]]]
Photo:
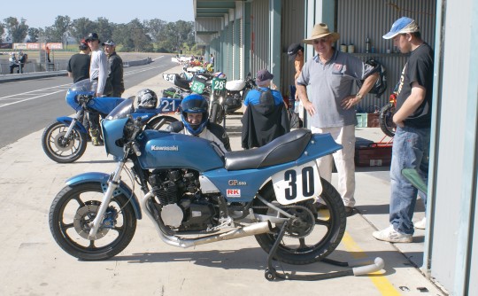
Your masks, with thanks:
[[[209,121],[208,105],[205,98],[198,94],[192,94],[184,97],[181,101],[181,121],[189,133],[194,136],[199,135]],[[203,113],[203,119],[199,124],[188,122],[188,113]]]

